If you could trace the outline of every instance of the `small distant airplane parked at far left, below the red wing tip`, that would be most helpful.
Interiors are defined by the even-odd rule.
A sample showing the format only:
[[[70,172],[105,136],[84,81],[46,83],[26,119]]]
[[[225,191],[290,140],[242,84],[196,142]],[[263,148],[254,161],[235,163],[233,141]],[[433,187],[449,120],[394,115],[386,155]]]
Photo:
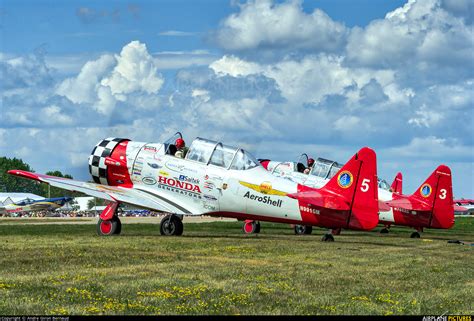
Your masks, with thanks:
[[[19,202],[12,202],[0,206],[0,213],[14,214],[33,211],[54,211],[71,200],[72,197],[45,198],[40,200],[26,198]]]

